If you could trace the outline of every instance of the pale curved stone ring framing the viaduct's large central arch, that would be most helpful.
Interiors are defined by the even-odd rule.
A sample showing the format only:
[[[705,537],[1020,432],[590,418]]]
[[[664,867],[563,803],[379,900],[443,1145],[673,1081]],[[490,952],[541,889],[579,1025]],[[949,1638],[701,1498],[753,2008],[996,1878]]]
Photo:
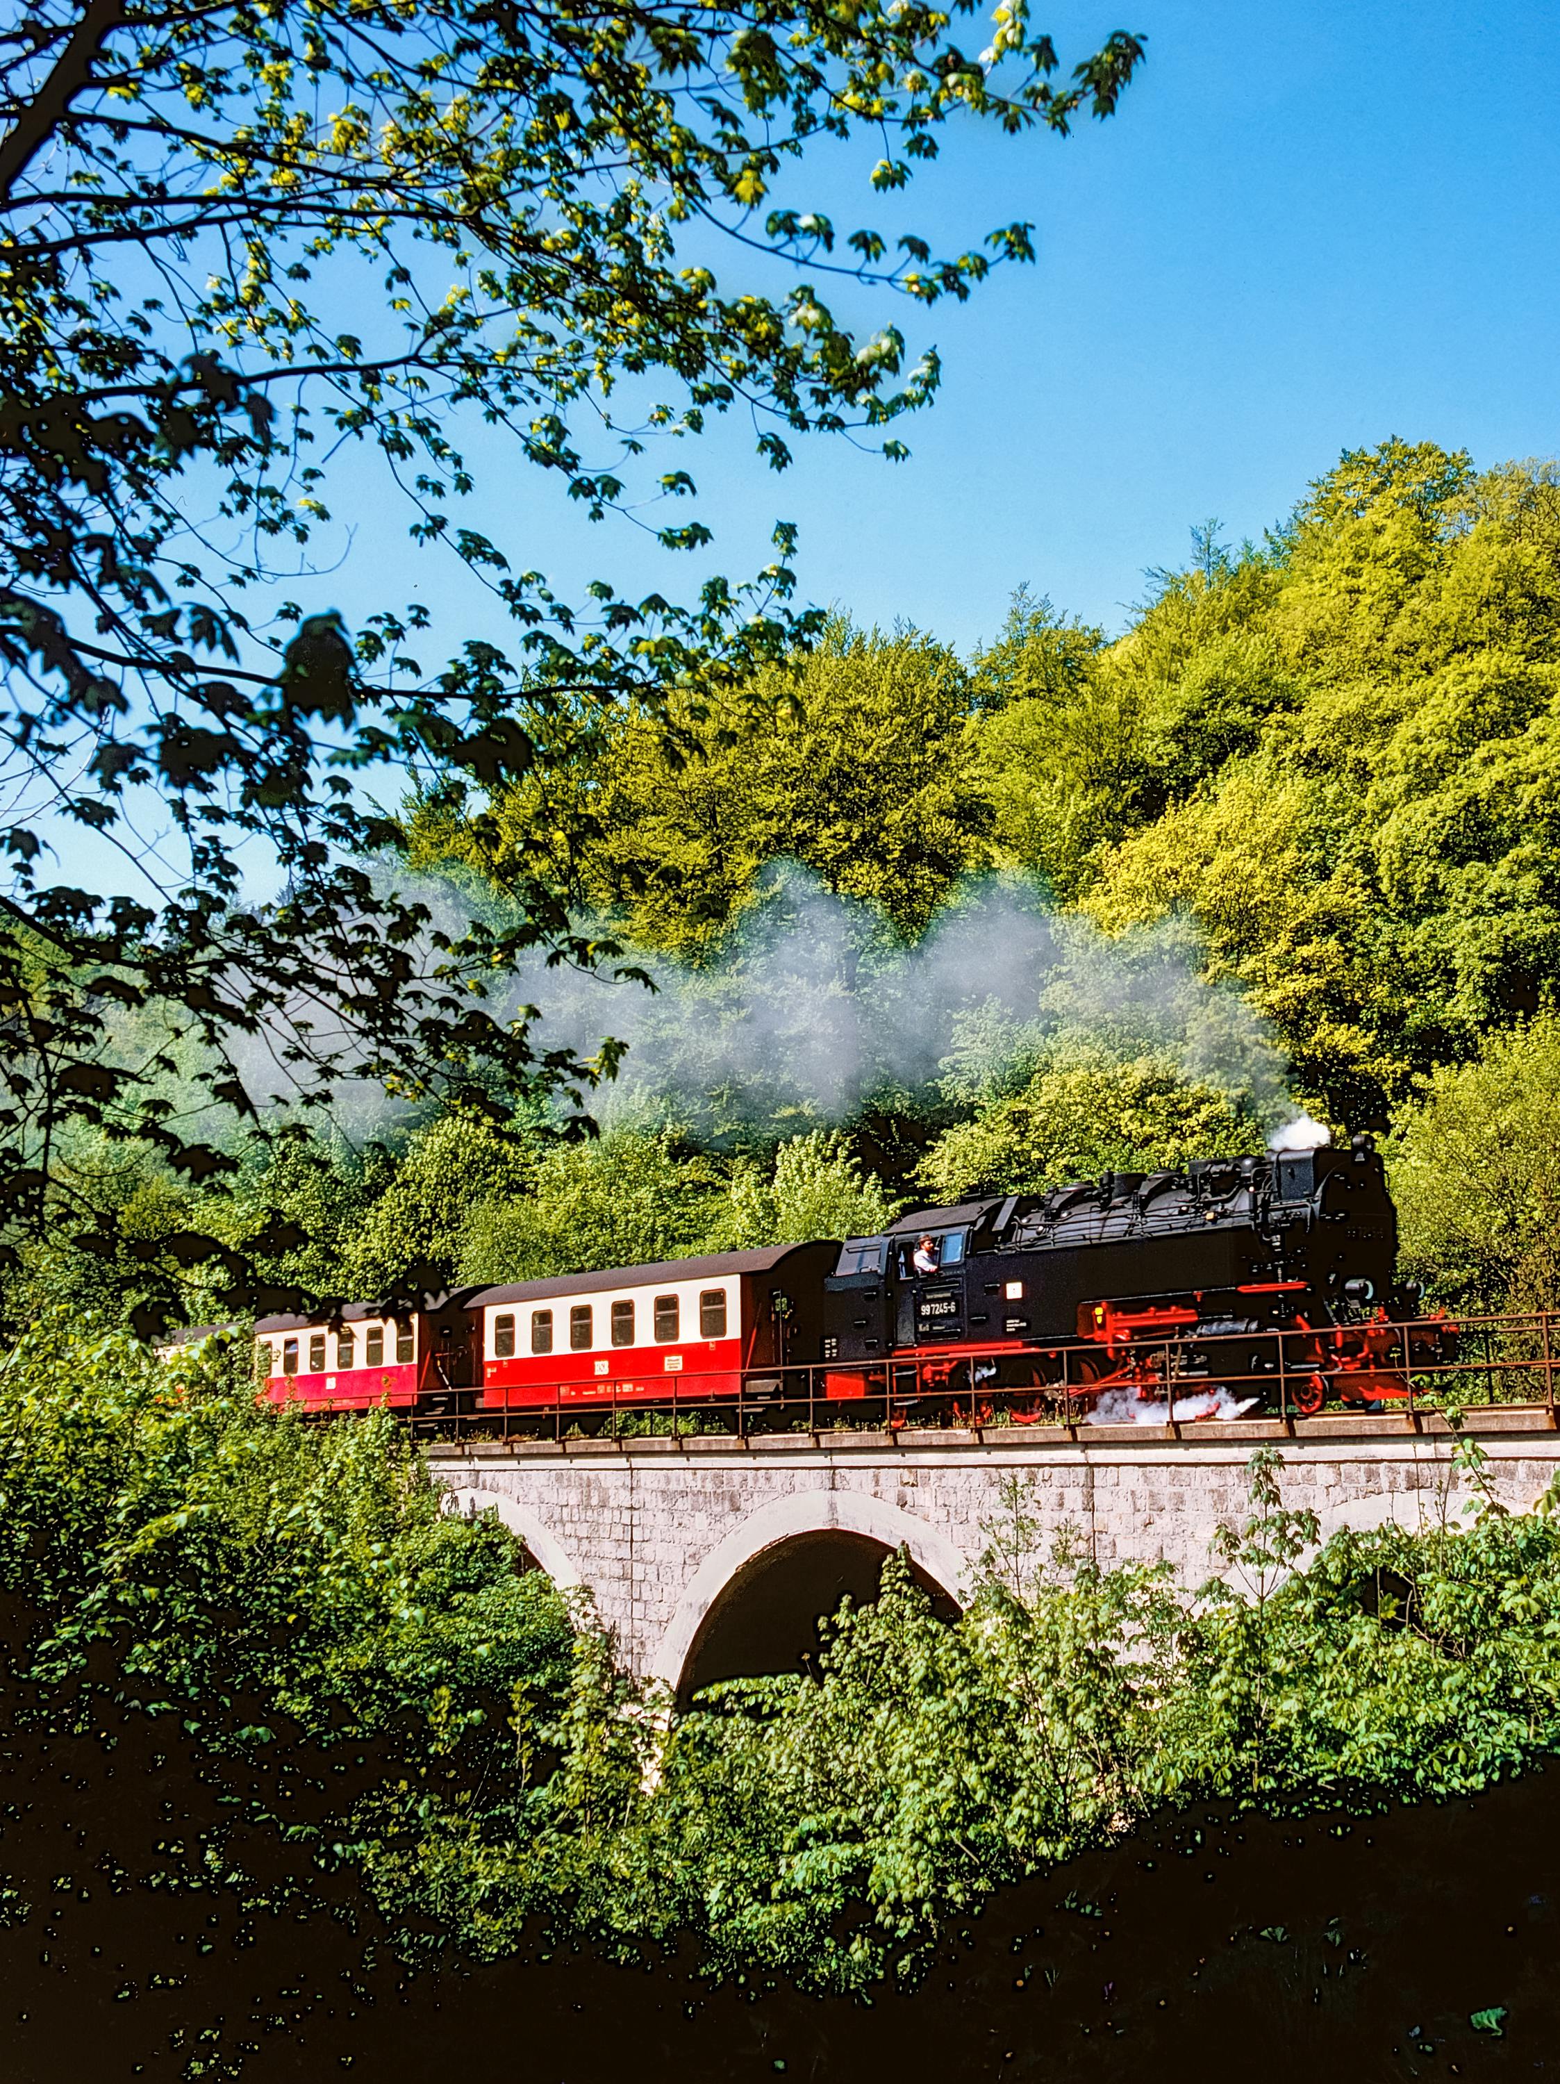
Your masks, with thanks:
[[[689,1657],[716,1603],[766,1555],[800,1536],[846,1534],[906,1548],[910,1561],[960,1605],[968,1596],[968,1559],[914,1513],[854,1490],[796,1490],[762,1505],[704,1557],[687,1584],[650,1663],[650,1678],[679,1692]]]

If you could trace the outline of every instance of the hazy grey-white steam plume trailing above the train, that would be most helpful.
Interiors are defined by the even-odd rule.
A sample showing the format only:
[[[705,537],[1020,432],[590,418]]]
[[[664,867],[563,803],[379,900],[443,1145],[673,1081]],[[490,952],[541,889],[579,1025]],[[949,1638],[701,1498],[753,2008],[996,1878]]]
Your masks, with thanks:
[[[469,907],[444,879],[394,882],[448,934],[483,904]],[[1023,882],[987,882],[958,892],[906,946],[875,907],[779,863],[716,961],[696,967],[633,948],[625,961],[656,990],[614,977],[621,965],[581,973],[539,954],[487,1002],[498,1017],[535,1007],[537,1050],[592,1057],[606,1036],[627,1044],[619,1080],[587,1096],[604,1123],[660,1117],[710,1138],[800,1134],[933,1084],[973,1100],[1021,1084],[1025,1065],[1050,1050],[1085,1044],[1158,1057],[1227,1092],[1260,1130],[1287,1123],[1275,1138],[1300,1134],[1270,1029],[1237,992],[1200,975],[1200,944],[1183,921],[1112,940],[1050,911]],[[260,1100],[290,1098],[279,1040],[285,1032],[242,1048]],[[367,1084],[344,1086],[333,1115],[352,1140],[410,1119]]]

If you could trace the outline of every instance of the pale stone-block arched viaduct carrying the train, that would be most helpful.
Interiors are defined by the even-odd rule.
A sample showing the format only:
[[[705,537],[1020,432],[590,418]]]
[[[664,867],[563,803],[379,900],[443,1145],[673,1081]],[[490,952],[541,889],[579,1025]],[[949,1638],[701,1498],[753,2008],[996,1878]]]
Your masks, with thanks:
[[[1560,1473],[1550,1413],[1468,1413],[1487,1480],[1531,1507]],[[1323,1536],[1387,1519],[1460,1517],[1439,1415],[1075,1430],[760,1434],[456,1442],[427,1448],[450,1509],[494,1511],[562,1586],[587,1588],[627,1663],[681,1696],[716,1678],[789,1667],[839,1594],[871,1596],[889,1548],[956,1605],[1014,1488],[1046,1534],[1064,1525],[1102,1563],[1168,1559],[1189,1580],[1246,1507],[1246,1463],[1273,1440],[1283,1492]]]

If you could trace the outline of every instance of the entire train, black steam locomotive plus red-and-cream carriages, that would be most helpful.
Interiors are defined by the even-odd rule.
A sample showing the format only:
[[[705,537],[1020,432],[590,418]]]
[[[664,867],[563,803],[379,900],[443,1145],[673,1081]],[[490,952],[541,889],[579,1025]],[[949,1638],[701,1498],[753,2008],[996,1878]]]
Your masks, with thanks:
[[[781,1244],[256,1325],[262,1394],[483,1411],[592,1430],[633,1407],[827,1405],[891,1423],[1196,1419],[1379,1405],[1452,1353],[1395,1286],[1368,1136],[1343,1148],[1106,1173],[923,1209],[881,1236]]]

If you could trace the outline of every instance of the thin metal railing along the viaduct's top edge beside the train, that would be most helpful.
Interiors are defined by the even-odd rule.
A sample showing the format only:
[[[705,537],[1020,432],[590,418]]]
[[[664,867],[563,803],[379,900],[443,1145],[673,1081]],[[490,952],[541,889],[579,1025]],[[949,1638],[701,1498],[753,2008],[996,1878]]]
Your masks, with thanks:
[[[646,1348],[646,1361],[656,1350]],[[1181,1434],[1206,1421],[1306,1425],[1341,1411],[1512,1407],[1556,1423],[1560,1321],[1548,1311],[1052,1348],[958,1346],[881,1361],[669,1373],[635,1382],[452,1388],[410,1425],[427,1442],[752,1440],[841,1432],[1104,1425]],[[437,1398],[433,1400],[439,1403]]]

